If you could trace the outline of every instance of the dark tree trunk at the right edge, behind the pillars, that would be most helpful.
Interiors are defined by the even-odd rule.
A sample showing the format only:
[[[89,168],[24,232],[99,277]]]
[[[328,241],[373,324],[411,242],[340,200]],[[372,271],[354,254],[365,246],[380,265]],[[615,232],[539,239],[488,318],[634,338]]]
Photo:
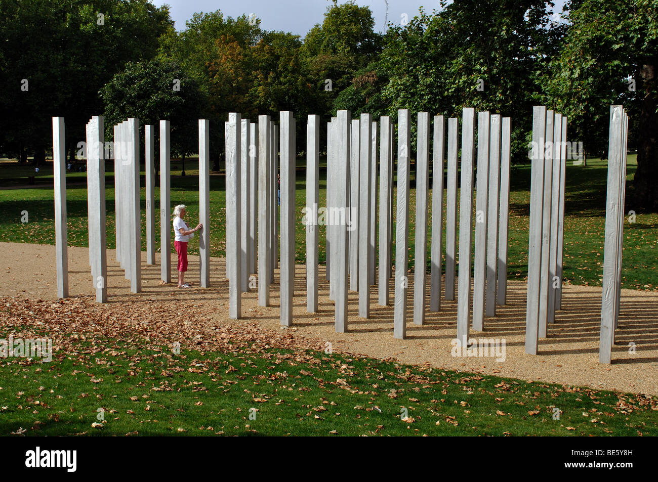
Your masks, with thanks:
[[[640,100],[640,122],[638,122],[638,170],[633,183],[636,208],[658,210],[658,114],[657,100],[653,97],[656,87],[656,64],[644,64],[640,68],[642,96]]]

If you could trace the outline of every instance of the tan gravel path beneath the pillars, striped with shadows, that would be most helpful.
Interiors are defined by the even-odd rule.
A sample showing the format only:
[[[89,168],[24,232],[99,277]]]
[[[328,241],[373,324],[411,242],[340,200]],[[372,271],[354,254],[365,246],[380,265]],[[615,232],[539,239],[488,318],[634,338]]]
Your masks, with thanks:
[[[0,266],[0,296],[33,301],[57,298],[54,246],[0,243],[0,248],[4,254]],[[157,303],[158,306],[165,303],[172,307],[172,319],[163,322],[180,323],[176,314],[184,313],[186,307],[191,309],[202,305],[210,313],[207,317],[209,326],[258,322],[265,335],[282,329],[279,325],[278,270],[271,287],[272,306],[258,306],[257,289],[252,289],[243,294],[243,319],[236,321],[228,318],[224,258],[211,258],[211,287],[201,289],[199,257],[190,255],[186,281],[191,282],[192,288],[178,289],[175,283],[160,284],[159,253],[153,266],[146,264],[146,253],[141,254],[143,292],[134,295],[130,294],[130,281],[125,279],[123,270],[115,261],[114,251],[107,251],[107,309],[112,309],[118,302]],[[174,258],[172,255],[172,260]],[[87,248],[68,248],[68,270],[71,297],[82,297],[88,309],[103,309],[94,302]],[[328,298],[324,266],[320,266],[318,313],[306,311],[305,267],[297,264],[295,272],[293,325],[287,329],[301,343],[308,339],[309,349],[315,348],[316,340],[321,339],[330,343],[327,346],[336,352],[393,359],[405,364],[658,395],[658,293],[655,291],[622,289],[613,364],[604,365],[598,362],[600,287],[565,285],[563,310],[557,312],[555,324],[549,325],[548,337],[540,339],[539,354],[533,356],[524,352],[526,283],[511,280],[508,283],[508,304],[497,308],[497,316],[489,319],[486,331],[471,333],[475,339],[505,339],[505,361],[497,361],[492,357],[451,355],[451,341],[457,331],[457,304],[454,301],[442,300],[440,312],[426,312],[426,324],[413,324],[413,277],[410,277],[407,291],[407,339],[396,340],[393,339],[393,306],[377,304],[376,285],[370,288],[370,319],[359,318],[358,293],[349,292],[350,329],[348,333],[336,333],[334,302]],[[631,342],[635,343],[635,352],[629,347]]]

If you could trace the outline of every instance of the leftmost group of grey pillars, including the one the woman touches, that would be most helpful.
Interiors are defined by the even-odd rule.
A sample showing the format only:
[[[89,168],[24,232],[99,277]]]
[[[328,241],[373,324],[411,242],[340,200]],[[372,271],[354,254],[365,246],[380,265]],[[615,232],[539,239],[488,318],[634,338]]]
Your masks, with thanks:
[[[160,221],[161,278],[170,283],[170,122],[160,121]],[[55,177],[55,243],[57,296],[68,297],[66,235],[66,170],[64,118],[53,117],[53,164]],[[199,239],[201,287],[210,281],[209,121],[199,120],[199,219],[204,229]],[[144,126],[146,191],[146,260],[155,264],[155,128]],[[93,116],[86,126],[89,265],[97,302],[107,301],[107,254],[105,212],[105,128],[103,116]],[[141,212],[139,197],[139,120],[130,118],[114,126],[114,208],[116,260],[130,279],[130,291],[141,292]]]

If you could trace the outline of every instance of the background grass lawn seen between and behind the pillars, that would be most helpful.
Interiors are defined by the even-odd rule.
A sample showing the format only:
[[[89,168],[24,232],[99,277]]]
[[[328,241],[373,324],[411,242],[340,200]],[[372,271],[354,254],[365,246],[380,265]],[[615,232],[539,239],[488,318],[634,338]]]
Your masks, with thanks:
[[[627,182],[636,170],[636,157],[628,156]],[[326,187],[326,166],[321,161],[320,206],[324,205]],[[108,163],[110,166],[110,163]],[[193,224],[198,218],[198,164],[195,158],[185,162],[187,176],[180,176],[180,160],[172,160],[171,203],[173,206],[188,205],[188,219]],[[0,162],[0,209],[4,216],[0,219],[2,241],[20,243],[55,242],[54,203],[52,190],[52,164],[47,163],[39,172],[37,187],[26,189],[1,189],[26,185],[25,176],[34,174],[34,168],[19,167],[15,163]],[[113,173],[107,172],[107,247],[114,248],[114,189]],[[67,176],[68,242],[72,246],[87,246],[87,191],[84,173]],[[141,183],[144,178],[142,173]],[[567,166],[567,186],[565,195],[565,258],[563,276],[566,282],[578,285],[601,285],[603,275],[603,234],[605,231],[605,187],[607,183],[607,162],[589,159],[588,166]],[[431,183],[430,183],[431,185]],[[226,199],[224,176],[211,174],[211,255],[224,256],[226,239]],[[524,279],[528,265],[528,212],[530,203],[530,166],[513,166],[511,170],[510,216],[509,216],[509,270],[510,279]],[[444,193],[445,194],[445,193]],[[476,196],[476,193],[475,193]],[[413,268],[415,252],[415,189],[412,183],[409,210],[409,267]],[[430,190],[430,205],[432,193]],[[156,206],[159,206],[159,189],[155,190]],[[301,223],[301,208],[305,206],[305,160],[297,159],[297,231],[295,253],[297,262],[305,260],[305,229]],[[395,189],[393,192],[395,199]],[[459,201],[459,196],[457,197]],[[145,250],[145,191],[141,189],[142,208],[142,249]],[[445,211],[445,195],[444,195]],[[626,206],[632,210],[633,206]],[[28,211],[27,223],[21,223],[24,210]],[[157,210],[156,210],[157,212]],[[395,217],[395,209],[393,209]],[[431,213],[428,214],[431,216]],[[431,217],[430,217],[431,219]],[[445,215],[443,216],[443,237],[445,240]],[[395,229],[395,225],[393,225]],[[393,231],[395,232],[395,231]],[[159,243],[159,217],[156,219],[155,235]],[[393,235],[393,238],[395,236]],[[320,226],[320,262],[324,262],[325,229]],[[651,260],[655,258],[658,242],[658,214],[637,214],[634,223],[624,222],[624,264],[622,287],[634,289],[656,289],[658,270]],[[198,241],[190,243],[190,252],[198,252]],[[445,249],[445,242],[443,243]],[[394,253],[393,247],[393,253]],[[427,256],[430,254],[428,236]],[[395,257],[393,256],[393,259]],[[429,264],[429,262],[428,262]]]

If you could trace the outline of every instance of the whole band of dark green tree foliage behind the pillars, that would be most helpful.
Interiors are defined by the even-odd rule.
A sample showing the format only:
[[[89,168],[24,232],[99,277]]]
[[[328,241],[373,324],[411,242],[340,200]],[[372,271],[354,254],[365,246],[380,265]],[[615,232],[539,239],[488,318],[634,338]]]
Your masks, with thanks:
[[[569,116],[570,140],[605,156],[609,106],[623,103],[638,149],[629,196],[657,209],[658,0],[570,0],[561,18],[554,10],[542,0],[442,0],[381,33],[368,7],[334,0],[302,39],[220,11],[176,31],[168,8],[148,0],[0,0],[0,152],[39,162],[51,116],[66,117],[72,148],[104,112],[107,125],[170,118],[174,151],[186,155],[205,117],[217,165],[228,112],[256,120],[293,110],[301,151],[310,113],[475,107],[512,117],[513,160],[524,162],[532,106],[545,104]]]

